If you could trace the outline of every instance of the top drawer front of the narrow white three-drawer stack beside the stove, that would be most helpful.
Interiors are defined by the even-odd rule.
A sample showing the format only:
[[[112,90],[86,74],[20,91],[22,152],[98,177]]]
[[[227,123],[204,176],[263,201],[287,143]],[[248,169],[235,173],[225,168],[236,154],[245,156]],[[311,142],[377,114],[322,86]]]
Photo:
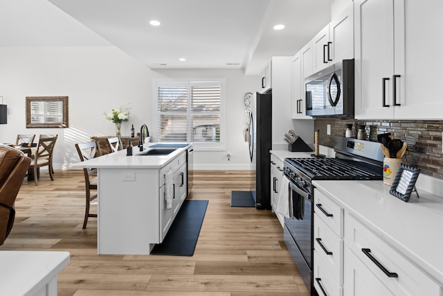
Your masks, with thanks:
[[[318,189],[314,189],[314,212],[338,237],[343,238],[343,208]]]

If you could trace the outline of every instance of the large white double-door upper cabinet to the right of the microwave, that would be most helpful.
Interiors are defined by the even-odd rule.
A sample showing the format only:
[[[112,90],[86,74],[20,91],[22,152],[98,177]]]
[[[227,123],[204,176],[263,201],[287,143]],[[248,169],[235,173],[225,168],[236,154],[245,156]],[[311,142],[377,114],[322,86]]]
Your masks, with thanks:
[[[442,119],[443,1],[431,2],[354,2],[356,119]]]

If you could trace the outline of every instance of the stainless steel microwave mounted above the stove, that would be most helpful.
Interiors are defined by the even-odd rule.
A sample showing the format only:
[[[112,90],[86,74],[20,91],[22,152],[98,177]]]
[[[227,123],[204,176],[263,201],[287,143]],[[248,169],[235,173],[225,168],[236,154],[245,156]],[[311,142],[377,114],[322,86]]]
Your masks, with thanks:
[[[354,59],[332,64],[305,82],[306,115],[354,117]]]

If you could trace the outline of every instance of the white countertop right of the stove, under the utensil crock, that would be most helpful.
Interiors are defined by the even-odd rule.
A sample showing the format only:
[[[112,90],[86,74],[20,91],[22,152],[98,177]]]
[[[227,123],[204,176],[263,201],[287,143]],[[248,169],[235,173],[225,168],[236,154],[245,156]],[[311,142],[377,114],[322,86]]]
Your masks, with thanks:
[[[409,202],[383,181],[313,181],[317,189],[368,225],[392,247],[443,283],[443,198],[419,190]],[[314,193],[315,194],[315,193]]]

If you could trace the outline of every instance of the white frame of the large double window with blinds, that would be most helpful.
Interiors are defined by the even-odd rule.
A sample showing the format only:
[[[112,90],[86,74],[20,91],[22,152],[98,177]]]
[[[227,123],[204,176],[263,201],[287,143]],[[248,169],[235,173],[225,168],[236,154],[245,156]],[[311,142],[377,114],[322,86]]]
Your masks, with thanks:
[[[220,87],[220,141],[219,142],[192,142],[192,146],[195,150],[226,150],[226,96],[225,96],[225,79],[224,78],[213,78],[213,79],[155,79],[153,82],[153,98],[154,98],[154,127],[155,127],[155,135],[156,139],[159,143],[170,143],[170,142],[161,142],[159,141],[159,96],[158,96],[158,87],[165,86],[184,86],[188,88],[188,100],[187,100],[187,110],[186,113],[177,112],[171,113],[171,115],[183,115],[186,114],[188,116],[187,120],[187,128],[188,128],[188,138],[186,141],[190,142],[190,137],[192,134],[192,115],[199,115],[199,112],[192,112],[192,96],[190,89],[192,86],[203,86],[203,85],[217,85]],[[205,112],[203,112],[205,114]],[[213,115],[215,112],[208,112],[208,115]]]

